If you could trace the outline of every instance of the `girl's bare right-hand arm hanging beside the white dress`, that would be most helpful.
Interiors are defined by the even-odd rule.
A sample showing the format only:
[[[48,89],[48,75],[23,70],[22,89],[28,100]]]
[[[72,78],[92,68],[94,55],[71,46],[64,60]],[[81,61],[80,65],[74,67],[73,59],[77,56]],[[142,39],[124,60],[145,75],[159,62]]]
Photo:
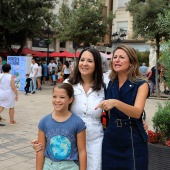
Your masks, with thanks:
[[[87,154],[86,154],[86,134],[85,130],[77,134],[77,148],[79,155],[79,170],[86,170]]]

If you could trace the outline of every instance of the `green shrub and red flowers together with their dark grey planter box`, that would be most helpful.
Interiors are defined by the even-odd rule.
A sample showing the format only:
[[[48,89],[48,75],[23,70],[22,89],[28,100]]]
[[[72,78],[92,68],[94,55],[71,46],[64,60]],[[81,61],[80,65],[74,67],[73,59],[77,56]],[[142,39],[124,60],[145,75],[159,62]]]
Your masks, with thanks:
[[[170,169],[170,102],[158,109],[152,119],[154,131],[148,130],[149,170]]]

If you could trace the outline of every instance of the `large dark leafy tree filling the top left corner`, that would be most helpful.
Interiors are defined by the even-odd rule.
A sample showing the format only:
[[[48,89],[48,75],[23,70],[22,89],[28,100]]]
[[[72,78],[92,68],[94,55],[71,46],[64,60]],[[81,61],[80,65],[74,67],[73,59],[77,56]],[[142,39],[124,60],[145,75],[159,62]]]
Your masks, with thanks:
[[[55,4],[56,0],[1,0],[1,49],[19,55],[28,39],[42,36],[42,30],[55,21]],[[19,50],[15,52],[12,45],[19,45]]]

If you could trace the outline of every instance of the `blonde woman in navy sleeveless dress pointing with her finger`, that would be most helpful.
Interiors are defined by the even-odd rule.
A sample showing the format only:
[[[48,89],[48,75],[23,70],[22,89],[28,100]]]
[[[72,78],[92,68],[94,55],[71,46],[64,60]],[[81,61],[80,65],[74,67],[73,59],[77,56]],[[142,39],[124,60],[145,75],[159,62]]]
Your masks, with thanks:
[[[102,144],[102,170],[147,170],[148,136],[142,113],[149,86],[140,75],[136,51],[119,45],[111,67],[106,100],[96,107],[110,110]]]

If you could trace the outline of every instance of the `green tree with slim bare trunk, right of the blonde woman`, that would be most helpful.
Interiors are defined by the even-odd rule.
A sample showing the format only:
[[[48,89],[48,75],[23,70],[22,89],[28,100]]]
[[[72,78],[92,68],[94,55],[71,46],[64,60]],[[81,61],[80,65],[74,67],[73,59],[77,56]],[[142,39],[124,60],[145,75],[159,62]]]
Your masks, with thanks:
[[[147,40],[156,41],[156,64],[160,53],[160,40],[162,37],[168,37],[168,32],[162,30],[157,25],[157,21],[159,15],[164,14],[164,9],[169,9],[168,4],[169,0],[130,0],[127,3],[127,11],[133,16],[134,37],[141,36]],[[157,75],[158,69],[156,69]],[[158,77],[156,78],[156,89],[157,96],[159,96]]]

